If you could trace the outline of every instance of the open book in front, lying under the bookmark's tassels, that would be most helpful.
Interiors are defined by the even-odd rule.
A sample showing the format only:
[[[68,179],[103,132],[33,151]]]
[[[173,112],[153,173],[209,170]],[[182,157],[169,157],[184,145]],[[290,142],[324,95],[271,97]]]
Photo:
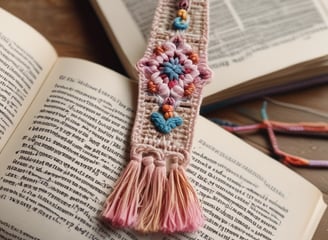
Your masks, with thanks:
[[[311,239],[321,192],[202,117],[187,172],[203,228],[154,236],[105,226],[99,214],[127,161],[135,85],[58,57],[0,9],[1,239]]]

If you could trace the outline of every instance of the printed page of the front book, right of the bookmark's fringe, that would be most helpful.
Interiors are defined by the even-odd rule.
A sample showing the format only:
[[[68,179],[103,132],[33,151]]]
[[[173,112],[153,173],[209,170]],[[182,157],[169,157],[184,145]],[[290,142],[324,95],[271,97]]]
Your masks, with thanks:
[[[325,209],[321,193],[276,160],[204,121],[197,123],[190,164],[195,170],[189,171],[197,176],[193,183],[208,218],[221,220],[205,225],[212,239],[218,232],[222,239],[311,239]],[[311,207],[306,210],[304,203]],[[311,227],[313,220],[317,223]]]

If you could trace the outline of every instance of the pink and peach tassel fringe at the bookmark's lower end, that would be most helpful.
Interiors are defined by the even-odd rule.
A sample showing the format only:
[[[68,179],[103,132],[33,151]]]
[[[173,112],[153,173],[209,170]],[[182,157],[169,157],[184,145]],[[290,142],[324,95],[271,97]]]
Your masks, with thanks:
[[[132,153],[106,201],[103,220],[143,233],[197,230],[204,221],[201,205],[184,167],[173,160],[167,173],[161,154],[144,151]]]

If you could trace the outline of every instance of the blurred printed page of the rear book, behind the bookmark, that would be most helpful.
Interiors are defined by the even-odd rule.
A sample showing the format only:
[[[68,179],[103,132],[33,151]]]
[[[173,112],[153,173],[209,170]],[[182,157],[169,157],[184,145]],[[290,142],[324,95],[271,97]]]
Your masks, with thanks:
[[[111,28],[129,58],[130,66],[125,64],[125,67],[131,68],[146,49],[157,2],[91,2],[101,10],[97,12],[102,22],[107,20],[105,28]],[[322,6],[320,0],[209,0],[208,60],[214,76],[204,89],[204,100],[248,80],[326,56],[328,13]],[[124,22],[123,28],[121,22]],[[136,26],[139,33],[135,38]]]

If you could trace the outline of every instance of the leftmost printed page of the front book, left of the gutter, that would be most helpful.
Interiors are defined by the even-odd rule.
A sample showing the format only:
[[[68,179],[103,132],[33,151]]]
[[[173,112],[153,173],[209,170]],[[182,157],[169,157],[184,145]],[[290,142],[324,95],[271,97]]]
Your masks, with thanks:
[[[56,58],[47,40],[0,8],[0,152]]]

